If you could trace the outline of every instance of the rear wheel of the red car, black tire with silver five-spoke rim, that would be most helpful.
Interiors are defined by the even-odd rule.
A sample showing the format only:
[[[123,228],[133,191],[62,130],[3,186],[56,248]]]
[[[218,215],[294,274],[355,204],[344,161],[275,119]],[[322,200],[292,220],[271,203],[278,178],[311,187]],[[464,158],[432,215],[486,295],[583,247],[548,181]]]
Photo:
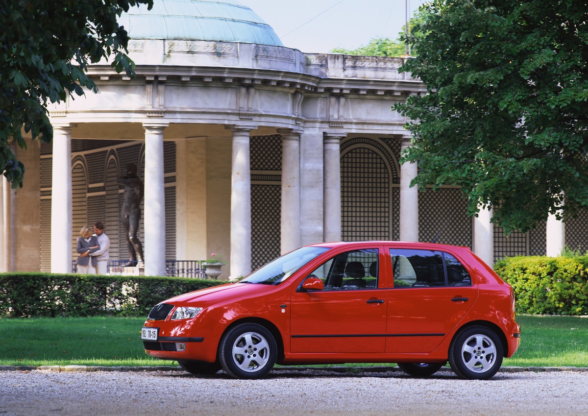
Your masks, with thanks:
[[[496,374],[504,356],[502,342],[490,328],[459,331],[449,346],[449,364],[460,378],[487,380]]]

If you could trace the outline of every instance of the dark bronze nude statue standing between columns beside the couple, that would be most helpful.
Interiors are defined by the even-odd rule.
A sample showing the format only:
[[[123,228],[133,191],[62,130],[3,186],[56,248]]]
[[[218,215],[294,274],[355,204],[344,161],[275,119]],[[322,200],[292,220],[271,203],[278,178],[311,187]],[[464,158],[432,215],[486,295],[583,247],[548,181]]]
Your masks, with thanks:
[[[137,261],[143,263],[143,246],[137,236],[141,219],[141,200],[143,199],[143,182],[137,176],[135,163],[127,163],[126,176],[116,178],[116,183],[125,186],[121,210],[121,224],[125,232],[126,244],[129,247],[129,263],[136,266]]]

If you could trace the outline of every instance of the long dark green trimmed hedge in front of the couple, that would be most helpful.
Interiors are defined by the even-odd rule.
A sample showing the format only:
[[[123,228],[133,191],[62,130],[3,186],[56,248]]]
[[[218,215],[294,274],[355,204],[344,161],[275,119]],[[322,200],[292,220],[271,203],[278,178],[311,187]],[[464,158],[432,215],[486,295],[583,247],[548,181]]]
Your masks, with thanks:
[[[182,277],[0,273],[0,317],[146,317],[167,298],[224,283]]]

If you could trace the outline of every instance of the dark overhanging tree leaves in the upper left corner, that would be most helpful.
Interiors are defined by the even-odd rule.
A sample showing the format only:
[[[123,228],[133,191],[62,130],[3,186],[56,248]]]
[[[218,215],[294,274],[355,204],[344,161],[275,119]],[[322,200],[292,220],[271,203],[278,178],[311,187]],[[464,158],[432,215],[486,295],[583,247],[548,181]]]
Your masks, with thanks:
[[[125,55],[129,38],[116,18],[130,6],[153,0],[2,0],[0,2],[0,173],[21,186],[24,166],[10,141],[26,148],[22,136],[51,142],[46,106],[96,92],[88,63],[115,55],[117,72],[133,74]]]

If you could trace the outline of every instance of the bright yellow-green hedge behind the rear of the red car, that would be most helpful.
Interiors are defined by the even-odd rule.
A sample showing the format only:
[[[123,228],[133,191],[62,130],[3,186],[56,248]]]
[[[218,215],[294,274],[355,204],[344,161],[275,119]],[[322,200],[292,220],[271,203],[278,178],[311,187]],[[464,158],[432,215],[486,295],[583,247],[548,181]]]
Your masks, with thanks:
[[[494,270],[515,290],[519,313],[588,314],[588,257],[507,257]]]

